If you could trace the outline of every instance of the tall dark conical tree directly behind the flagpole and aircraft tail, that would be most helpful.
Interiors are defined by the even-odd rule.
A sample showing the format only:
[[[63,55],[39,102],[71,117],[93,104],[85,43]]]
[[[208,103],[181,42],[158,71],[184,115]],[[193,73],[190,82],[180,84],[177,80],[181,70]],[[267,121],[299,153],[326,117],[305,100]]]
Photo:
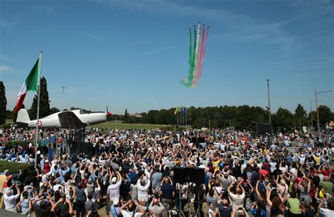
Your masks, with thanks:
[[[44,118],[51,114],[49,92],[47,92],[47,79],[43,76],[40,81],[41,92],[39,96],[39,118]],[[32,100],[32,106],[30,109],[30,118],[37,118],[37,100],[38,95],[36,94]]]

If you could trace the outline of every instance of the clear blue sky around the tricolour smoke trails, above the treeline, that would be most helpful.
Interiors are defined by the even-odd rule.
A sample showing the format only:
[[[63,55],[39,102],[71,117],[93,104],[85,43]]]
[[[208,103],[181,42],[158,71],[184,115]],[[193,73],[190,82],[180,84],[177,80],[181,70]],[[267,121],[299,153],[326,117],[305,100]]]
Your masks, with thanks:
[[[211,26],[197,89],[188,28]],[[309,111],[334,90],[333,1],[0,0],[0,80],[8,109],[43,51],[51,106],[113,113],[173,106],[267,105]],[[319,94],[333,111],[334,94]],[[33,93],[25,99],[30,108]],[[315,104],[312,105],[315,108]]]

